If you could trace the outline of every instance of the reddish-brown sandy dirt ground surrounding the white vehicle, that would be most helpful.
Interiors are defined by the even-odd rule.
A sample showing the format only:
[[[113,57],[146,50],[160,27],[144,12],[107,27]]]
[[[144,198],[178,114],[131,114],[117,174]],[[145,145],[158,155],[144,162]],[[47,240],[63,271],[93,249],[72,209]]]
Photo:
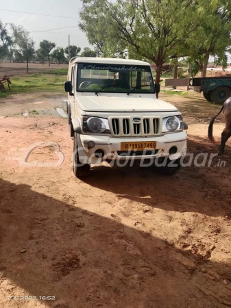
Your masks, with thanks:
[[[189,153],[215,153],[206,134],[217,107],[162,98],[189,123]],[[93,166],[80,180],[57,106],[62,97],[45,93],[0,102],[0,307],[231,307],[230,142],[210,167],[174,177]],[[221,116],[217,140],[222,128]],[[57,142],[63,164],[22,166],[35,142]],[[28,163],[55,164],[56,154],[40,146]]]

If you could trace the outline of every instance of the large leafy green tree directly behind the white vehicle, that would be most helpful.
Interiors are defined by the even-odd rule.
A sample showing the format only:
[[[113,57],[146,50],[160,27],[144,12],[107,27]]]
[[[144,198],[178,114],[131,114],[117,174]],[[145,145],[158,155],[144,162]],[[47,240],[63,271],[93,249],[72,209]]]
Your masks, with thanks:
[[[211,13],[206,0],[82,1],[80,28],[89,42],[103,53],[109,41],[111,53],[127,50],[130,58],[151,60],[156,64],[156,82],[160,81],[165,62],[204,52],[203,47],[199,48],[204,43],[204,25],[222,25],[216,21],[220,21],[221,14],[214,12],[221,12],[222,6],[226,12],[230,5],[230,1],[212,1]],[[222,40],[222,27],[219,35]]]

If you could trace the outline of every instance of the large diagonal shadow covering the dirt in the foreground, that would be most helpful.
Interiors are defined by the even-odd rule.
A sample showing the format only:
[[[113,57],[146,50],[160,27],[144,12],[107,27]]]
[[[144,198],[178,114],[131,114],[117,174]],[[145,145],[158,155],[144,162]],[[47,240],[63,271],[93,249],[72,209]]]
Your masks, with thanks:
[[[1,307],[204,308],[231,303],[222,283],[231,279],[226,264],[99,216],[78,207],[78,201],[73,206],[2,179],[0,191]],[[202,268],[209,266],[204,274]],[[211,280],[211,266],[219,268],[217,281]],[[37,296],[39,301],[8,296]]]

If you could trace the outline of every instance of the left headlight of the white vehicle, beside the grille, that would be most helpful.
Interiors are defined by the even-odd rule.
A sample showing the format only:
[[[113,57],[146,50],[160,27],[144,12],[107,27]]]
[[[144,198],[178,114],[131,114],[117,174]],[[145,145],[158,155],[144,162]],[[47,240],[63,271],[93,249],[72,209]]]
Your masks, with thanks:
[[[84,133],[110,133],[108,120],[95,116],[83,116],[82,125]]]

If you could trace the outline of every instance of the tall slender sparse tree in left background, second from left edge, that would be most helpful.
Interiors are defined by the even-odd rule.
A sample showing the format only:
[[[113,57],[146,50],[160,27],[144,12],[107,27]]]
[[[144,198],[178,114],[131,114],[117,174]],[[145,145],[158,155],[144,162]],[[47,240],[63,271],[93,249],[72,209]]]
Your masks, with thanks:
[[[14,52],[16,56],[19,56],[27,62],[27,73],[29,72],[29,61],[34,57],[34,40],[29,37],[29,32],[22,26],[16,26],[12,24],[12,30],[14,33],[14,43],[18,49]]]

